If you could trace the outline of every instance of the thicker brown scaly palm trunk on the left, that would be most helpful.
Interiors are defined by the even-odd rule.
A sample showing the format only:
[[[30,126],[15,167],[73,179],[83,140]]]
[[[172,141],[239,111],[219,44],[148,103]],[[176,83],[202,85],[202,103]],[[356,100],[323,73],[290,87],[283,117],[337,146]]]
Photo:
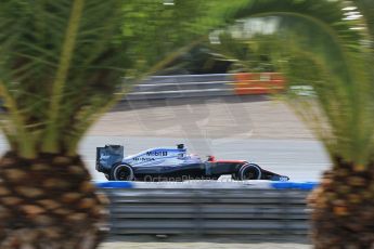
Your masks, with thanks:
[[[1,249],[91,249],[103,237],[104,204],[76,157],[0,160]]]

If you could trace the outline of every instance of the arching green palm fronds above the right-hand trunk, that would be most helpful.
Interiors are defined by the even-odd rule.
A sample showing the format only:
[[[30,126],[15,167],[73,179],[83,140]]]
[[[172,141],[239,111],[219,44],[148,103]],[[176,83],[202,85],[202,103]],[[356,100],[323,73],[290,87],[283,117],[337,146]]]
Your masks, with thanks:
[[[341,2],[324,0],[236,1],[229,16],[231,19],[265,16],[281,19],[279,35],[268,39],[285,44],[284,60],[289,65],[295,55],[309,57],[312,58],[309,63],[323,73],[318,80],[304,79],[313,86],[317,96],[312,102],[294,100],[297,107],[302,106],[297,112],[310,117],[309,121],[314,120],[313,127],[319,127],[332,156],[364,163],[373,152],[374,95],[373,74],[367,63],[370,48],[362,45],[362,41],[371,38],[356,28],[360,21],[345,21],[343,9]],[[288,70],[292,74],[295,70]],[[323,121],[315,118],[318,115],[325,117]],[[327,132],[321,132],[323,129]]]

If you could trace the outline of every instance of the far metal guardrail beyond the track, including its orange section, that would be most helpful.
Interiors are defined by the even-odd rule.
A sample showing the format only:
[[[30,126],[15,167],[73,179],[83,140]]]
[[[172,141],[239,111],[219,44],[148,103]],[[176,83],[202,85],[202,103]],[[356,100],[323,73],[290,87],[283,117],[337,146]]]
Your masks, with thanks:
[[[126,81],[125,81],[126,83]],[[139,82],[128,101],[267,94],[282,90],[276,73],[152,76]]]

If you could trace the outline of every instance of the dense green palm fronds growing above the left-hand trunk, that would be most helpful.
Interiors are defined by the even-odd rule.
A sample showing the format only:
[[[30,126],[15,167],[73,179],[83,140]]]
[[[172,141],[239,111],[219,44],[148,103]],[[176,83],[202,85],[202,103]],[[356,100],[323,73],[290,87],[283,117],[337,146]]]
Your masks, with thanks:
[[[12,114],[22,115],[20,127],[38,134],[22,156],[33,157],[38,144],[42,152],[66,149],[62,137],[78,123],[76,115],[98,96],[105,104],[120,83],[120,6],[117,0],[1,1],[0,78],[17,103],[10,119],[20,123]]]

